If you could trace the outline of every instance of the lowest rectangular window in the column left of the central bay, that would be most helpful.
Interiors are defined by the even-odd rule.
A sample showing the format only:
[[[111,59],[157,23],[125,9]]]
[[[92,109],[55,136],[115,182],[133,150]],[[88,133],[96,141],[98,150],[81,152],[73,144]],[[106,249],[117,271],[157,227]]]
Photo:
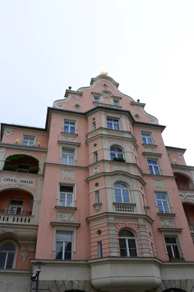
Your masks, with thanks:
[[[55,259],[72,259],[72,233],[56,233]]]

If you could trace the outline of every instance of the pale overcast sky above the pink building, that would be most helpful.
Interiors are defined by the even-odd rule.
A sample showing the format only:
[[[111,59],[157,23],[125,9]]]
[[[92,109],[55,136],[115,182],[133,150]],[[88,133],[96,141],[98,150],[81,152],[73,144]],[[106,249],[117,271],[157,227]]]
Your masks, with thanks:
[[[45,127],[71,86],[108,72],[194,165],[193,0],[0,0],[0,122]]]

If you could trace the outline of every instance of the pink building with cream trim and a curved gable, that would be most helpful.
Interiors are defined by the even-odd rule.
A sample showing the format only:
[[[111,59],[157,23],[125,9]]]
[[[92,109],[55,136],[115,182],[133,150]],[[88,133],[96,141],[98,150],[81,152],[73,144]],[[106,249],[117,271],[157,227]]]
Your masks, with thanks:
[[[0,291],[193,292],[194,167],[107,75],[1,124]],[[193,223],[192,223],[193,222]]]

